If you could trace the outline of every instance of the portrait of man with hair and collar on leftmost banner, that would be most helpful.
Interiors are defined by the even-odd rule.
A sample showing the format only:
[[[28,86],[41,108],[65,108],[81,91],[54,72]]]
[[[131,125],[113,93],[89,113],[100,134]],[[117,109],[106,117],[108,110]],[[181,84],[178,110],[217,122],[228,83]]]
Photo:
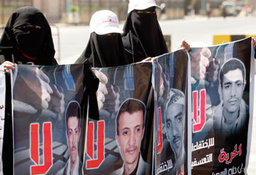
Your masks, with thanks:
[[[80,175],[83,163],[80,161],[78,142],[80,138],[80,105],[71,101],[66,109],[67,145],[69,147],[69,160],[58,175]]]

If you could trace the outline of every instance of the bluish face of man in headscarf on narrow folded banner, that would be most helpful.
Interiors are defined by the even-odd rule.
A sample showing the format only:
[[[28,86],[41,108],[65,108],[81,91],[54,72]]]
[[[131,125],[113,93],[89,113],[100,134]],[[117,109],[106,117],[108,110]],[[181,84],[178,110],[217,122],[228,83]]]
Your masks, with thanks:
[[[171,104],[167,107],[165,123],[166,123],[166,132],[167,138],[170,141],[170,146],[173,148],[173,151],[178,153],[182,151],[182,119],[184,115],[184,105],[182,104]]]

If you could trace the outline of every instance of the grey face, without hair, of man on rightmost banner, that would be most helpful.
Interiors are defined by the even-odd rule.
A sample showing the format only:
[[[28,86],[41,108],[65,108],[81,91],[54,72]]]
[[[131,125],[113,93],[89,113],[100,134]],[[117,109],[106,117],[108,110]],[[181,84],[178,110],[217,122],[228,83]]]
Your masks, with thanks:
[[[241,69],[228,71],[223,75],[222,98],[227,112],[238,111],[244,93],[244,77]]]

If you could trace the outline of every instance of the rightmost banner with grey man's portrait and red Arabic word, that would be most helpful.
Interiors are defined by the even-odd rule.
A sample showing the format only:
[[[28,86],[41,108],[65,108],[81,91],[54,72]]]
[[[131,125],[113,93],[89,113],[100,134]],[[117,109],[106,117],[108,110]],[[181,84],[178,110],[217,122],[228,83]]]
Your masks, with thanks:
[[[248,38],[189,52],[192,174],[246,174],[254,90],[251,42]]]

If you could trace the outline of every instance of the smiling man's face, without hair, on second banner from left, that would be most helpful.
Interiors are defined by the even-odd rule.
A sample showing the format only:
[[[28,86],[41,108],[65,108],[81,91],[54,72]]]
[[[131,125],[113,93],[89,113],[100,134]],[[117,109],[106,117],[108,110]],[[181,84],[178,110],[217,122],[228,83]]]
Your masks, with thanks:
[[[144,134],[143,111],[135,111],[132,114],[122,112],[118,124],[116,141],[120,147],[124,163],[138,163],[141,140]]]

